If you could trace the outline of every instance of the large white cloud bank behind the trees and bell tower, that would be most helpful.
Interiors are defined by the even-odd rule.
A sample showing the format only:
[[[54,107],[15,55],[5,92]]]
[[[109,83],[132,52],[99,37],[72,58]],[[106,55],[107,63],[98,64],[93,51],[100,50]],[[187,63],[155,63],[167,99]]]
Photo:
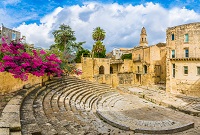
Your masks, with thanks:
[[[107,51],[114,47],[138,45],[141,28],[147,30],[149,44],[165,42],[167,27],[195,22],[200,14],[185,8],[165,9],[159,4],[119,5],[88,2],[83,6],[58,7],[44,16],[41,24],[22,24],[17,29],[27,37],[27,42],[48,48],[53,44],[52,31],[65,23],[75,31],[78,41],[86,41],[84,47],[93,45],[92,31],[100,26],[106,31],[104,44]]]

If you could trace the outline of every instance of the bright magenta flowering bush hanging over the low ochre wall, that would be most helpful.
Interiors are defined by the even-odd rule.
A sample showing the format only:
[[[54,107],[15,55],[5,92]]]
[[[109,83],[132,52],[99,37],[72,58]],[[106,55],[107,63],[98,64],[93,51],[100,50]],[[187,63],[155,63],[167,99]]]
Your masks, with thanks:
[[[60,68],[61,60],[55,54],[47,55],[44,50],[33,50],[27,53],[24,45],[19,43],[6,43],[2,39],[0,52],[4,54],[0,62],[0,72],[10,72],[15,78],[25,81],[28,79],[28,73],[36,76],[62,74]]]

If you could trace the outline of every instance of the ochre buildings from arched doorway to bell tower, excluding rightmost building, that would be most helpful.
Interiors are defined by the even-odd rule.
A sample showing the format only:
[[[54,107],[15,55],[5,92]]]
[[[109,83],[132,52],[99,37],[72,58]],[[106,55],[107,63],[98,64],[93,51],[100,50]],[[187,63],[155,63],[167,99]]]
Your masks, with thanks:
[[[148,46],[146,30],[140,34],[140,44],[132,49],[121,49],[132,53],[132,60],[113,58],[82,58],[82,79],[118,84],[154,85],[165,83],[166,49],[164,43]]]

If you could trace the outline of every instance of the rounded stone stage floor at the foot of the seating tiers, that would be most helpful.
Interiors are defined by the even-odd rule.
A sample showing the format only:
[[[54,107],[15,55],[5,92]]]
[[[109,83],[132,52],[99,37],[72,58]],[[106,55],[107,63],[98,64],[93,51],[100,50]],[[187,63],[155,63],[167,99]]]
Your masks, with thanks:
[[[133,107],[135,109],[132,109]],[[156,108],[153,110],[155,116],[151,115],[152,108]],[[171,112],[172,110],[163,109],[143,99],[126,95],[104,97],[98,102],[97,110],[99,117],[107,123],[135,133],[172,134],[194,128],[194,122],[182,120],[181,113],[176,112],[177,115],[174,116],[165,115],[172,114]]]

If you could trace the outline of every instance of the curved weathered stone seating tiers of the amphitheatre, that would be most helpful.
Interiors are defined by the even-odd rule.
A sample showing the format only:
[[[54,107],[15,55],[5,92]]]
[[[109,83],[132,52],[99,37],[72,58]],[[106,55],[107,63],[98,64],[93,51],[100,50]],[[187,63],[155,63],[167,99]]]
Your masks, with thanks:
[[[132,102],[131,97],[105,84],[69,76],[54,78],[44,86],[20,90],[8,102],[0,118],[0,135],[131,135],[171,133],[172,129],[181,132],[194,126],[180,122],[162,132],[146,128],[144,123],[151,121],[140,122],[123,114],[123,107],[135,106]],[[174,121],[166,121],[165,125],[170,122]],[[152,124],[159,125],[155,123]]]

